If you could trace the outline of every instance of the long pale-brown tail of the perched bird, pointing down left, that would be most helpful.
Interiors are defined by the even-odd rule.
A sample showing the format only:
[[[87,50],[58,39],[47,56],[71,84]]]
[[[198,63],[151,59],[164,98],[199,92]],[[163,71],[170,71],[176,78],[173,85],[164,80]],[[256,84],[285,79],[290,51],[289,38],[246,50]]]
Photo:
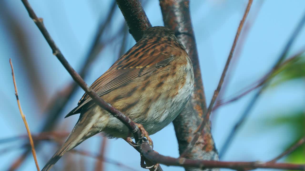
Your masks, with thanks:
[[[65,143],[57,150],[41,171],[50,170],[67,151],[81,144],[87,138],[97,134],[99,131],[91,129],[96,122],[96,117],[96,114],[92,110],[81,115]]]

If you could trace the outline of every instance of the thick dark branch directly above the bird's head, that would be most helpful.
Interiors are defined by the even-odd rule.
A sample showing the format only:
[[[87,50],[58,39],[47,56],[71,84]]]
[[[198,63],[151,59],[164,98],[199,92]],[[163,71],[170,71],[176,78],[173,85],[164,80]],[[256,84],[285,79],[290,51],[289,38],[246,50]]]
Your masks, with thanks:
[[[129,27],[129,33],[139,41],[144,30],[151,27],[139,0],[116,0]]]

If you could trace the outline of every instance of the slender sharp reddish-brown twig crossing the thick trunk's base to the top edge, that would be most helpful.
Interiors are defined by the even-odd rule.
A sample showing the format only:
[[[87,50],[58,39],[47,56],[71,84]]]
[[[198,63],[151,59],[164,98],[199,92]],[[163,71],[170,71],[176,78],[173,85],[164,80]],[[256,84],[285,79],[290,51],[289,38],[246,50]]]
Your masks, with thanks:
[[[212,108],[213,108],[213,104],[214,102],[216,101],[217,99],[217,96],[218,96],[218,93],[219,91],[221,90],[221,86],[222,86],[222,83],[224,82],[224,77],[227,73],[227,70],[228,70],[228,67],[229,67],[229,64],[230,64],[230,61],[232,59],[232,55],[233,55],[233,52],[234,52],[234,49],[235,49],[235,46],[236,46],[236,43],[237,43],[237,40],[239,38],[239,34],[242,30],[242,26],[248,16],[248,13],[250,11],[250,7],[252,5],[252,2],[253,0],[249,0],[248,2],[248,5],[247,5],[247,8],[245,10],[245,13],[244,13],[244,16],[242,17],[242,20],[240,21],[239,23],[239,26],[238,26],[238,29],[237,29],[237,32],[236,32],[236,35],[235,35],[235,38],[234,38],[234,41],[233,41],[233,45],[231,47],[231,51],[230,51],[230,54],[228,56],[228,59],[227,59],[227,62],[224,66],[224,70],[221,74],[221,78],[219,80],[219,83],[217,85],[217,89],[214,91],[214,94],[213,94],[213,98],[211,99],[211,102],[210,102],[210,105],[208,107],[208,110],[207,110],[207,113],[206,113],[206,117],[204,118],[203,122],[199,125],[198,127],[198,130],[196,131],[195,135],[194,135],[194,138],[192,139],[192,141],[188,144],[188,147],[185,149],[185,151],[180,155],[181,157],[187,155],[187,153],[193,148],[194,144],[196,143],[196,141],[198,140],[199,136],[202,134],[202,130],[203,128],[205,127],[205,125],[209,122],[209,118],[210,118],[210,113],[212,111]]]

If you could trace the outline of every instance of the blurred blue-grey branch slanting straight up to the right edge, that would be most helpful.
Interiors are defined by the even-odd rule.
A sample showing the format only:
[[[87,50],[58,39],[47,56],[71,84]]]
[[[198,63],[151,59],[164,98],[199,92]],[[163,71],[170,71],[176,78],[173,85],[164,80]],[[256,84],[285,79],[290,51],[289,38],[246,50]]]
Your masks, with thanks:
[[[302,30],[302,27],[303,27],[304,23],[305,23],[305,13],[303,14],[303,16],[302,16],[300,22],[298,23],[298,25],[296,26],[296,29],[293,31],[291,37],[289,38],[289,41],[287,42],[287,44],[285,45],[285,47],[283,49],[281,55],[279,56],[279,58],[274,63],[273,67],[271,68],[271,70],[268,73],[274,72],[281,65],[282,61],[287,56],[288,51],[289,51],[292,43],[294,42],[294,40],[296,39],[297,35]],[[246,106],[246,109],[244,110],[244,112],[242,113],[241,117],[239,118],[237,123],[234,125],[233,129],[230,131],[228,137],[226,138],[226,140],[224,142],[224,145],[222,146],[222,148],[221,148],[221,150],[219,152],[219,158],[221,158],[225,154],[225,152],[227,151],[227,149],[228,149],[229,145],[231,144],[233,138],[235,137],[235,134],[236,134],[237,130],[244,123],[246,118],[249,116],[250,110],[252,109],[252,107],[256,103],[257,99],[260,97],[260,95],[263,92],[263,90],[269,85],[269,83],[270,83],[270,80],[268,80],[266,83],[264,83],[264,85],[262,85],[260,87],[260,89],[253,96],[253,98],[251,99],[249,104]]]

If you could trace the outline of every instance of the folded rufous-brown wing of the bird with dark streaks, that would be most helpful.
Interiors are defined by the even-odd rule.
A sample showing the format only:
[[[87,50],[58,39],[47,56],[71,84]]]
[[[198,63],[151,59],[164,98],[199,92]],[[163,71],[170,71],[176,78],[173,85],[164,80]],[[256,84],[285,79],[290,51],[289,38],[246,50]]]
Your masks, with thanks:
[[[135,44],[134,47],[127,51],[103,75],[93,82],[91,88],[99,96],[103,96],[131,82],[137,77],[166,66],[174,60],[176,55],[180,55],[177,54],[179,51],[175,51],[177,46],[172,44],[150,43],[145,46],[140,44],[140,42]],[[84,93],[77,107],[68,113],[66,117],[80,113],[82,106],[91,100],[91,97]]]

